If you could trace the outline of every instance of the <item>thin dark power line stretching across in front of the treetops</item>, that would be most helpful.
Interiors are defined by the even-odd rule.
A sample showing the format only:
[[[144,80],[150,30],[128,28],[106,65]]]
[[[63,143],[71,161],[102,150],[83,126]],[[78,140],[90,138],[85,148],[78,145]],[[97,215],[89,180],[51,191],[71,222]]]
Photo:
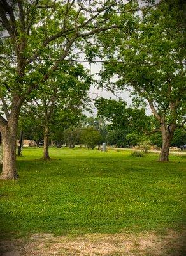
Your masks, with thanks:
[[[17,60],[16,56],[0,56],[1,59],[11,59],[11,60]],[[117,64],[117,63],[124,63],[124,64],[135,64],[135,65],[159,65],[159,64],[176,64],[176,65],[185,65],[185,62],[161,62],[161,61],[157,61],[157,62],[145,62],[145,61],[141,61],[141,62],[134,62],[134,61],[106,61],[106,60],[92,60],[92,61],[88,61],[88,60],[75,60],[75,59],[71,59],[71,60],[60,60],[60,59],[53,59],[53,58],[36,58],[33,60],[33,58],[28,58],[28,57],[22,57],[20,58],[20,60],[44,60],[44,61],[61,61],[61,62],[80,62],[80,63],[108,63],[108,64]]]

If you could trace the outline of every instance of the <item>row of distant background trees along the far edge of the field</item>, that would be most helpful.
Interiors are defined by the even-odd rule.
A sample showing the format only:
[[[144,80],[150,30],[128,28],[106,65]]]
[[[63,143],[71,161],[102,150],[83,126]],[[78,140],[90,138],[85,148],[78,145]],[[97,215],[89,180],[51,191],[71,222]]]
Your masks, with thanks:
[[[103,108],[103,102],[104,104],[107,102],[107,108]],[[109,111],[108,105],[110,105]],[[88,117],[82,114],[76,116],[76,122],[66,122],[62,119],[60,121],[57,118],[58,125],[50,125],[50,134],[48,134],[50,142],[48,140],[47,145],[44,140],[45,125],[42,125],[41,118],[35,116],[35,120],[33,120],[31,115],[21,113],[18,135],[21,131],[24,131],[24,138],[34,140],[37,147],[44,146],[43,159],[45,160],[50,159],[49,145],[55,145],[58,148],[62,146],[75,148],[75,145],[80,145],[80,147],[85,145],[89,149],[94,149],[97,146],[99,150],[103,143],[118,148],[132,148],[145,143],[147,146],[154,145],[156,149],[161,149],[161,133],[150,134],[149,131],[155,123],[155,118],[153,115],[147,116],[145,109],[127,107],[127,103],[121,99],[99,99],[96,106],[98,110],[96,117]],[[71,113],[70,117],[72,121]],[[185,141],[186,132],[183,129],[177,129],[171,141],[171,146],[183,149]],[[47,157],[45,154],[46,147]]]

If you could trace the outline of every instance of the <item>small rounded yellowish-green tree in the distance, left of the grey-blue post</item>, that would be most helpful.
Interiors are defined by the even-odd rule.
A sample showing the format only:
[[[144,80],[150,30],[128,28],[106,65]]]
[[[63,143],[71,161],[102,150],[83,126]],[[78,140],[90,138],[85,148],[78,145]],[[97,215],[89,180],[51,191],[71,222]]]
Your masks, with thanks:
[[[94,127],[87,127],[82,129],[80,141],[87,145],[87,148],[94,149],[96,145],[101,143],[101,134]]]

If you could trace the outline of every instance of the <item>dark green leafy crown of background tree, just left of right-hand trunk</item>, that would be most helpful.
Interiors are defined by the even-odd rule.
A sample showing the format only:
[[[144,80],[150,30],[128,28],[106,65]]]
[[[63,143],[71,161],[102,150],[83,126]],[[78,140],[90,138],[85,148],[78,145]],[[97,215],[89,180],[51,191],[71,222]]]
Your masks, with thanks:
[[[108,122],[107,143],[123,147],[136,145],[144,132],[150,131],[152,118],[145,115],[145,109],[127,107],[122,99],[98,99],[95,103],[97,115]]]

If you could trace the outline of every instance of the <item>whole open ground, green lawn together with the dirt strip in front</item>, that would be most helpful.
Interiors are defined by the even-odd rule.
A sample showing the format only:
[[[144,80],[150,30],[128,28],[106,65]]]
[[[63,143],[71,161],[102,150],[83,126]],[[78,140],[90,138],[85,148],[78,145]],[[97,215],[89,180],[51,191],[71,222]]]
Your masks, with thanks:
[[[185,156],[159,163],[157,154],[132,157],[129,150],[50,152],[43,161],[41,148],[25,149],[20,179],[0,182],[4,252],[15,244],[23,253],[15,255],[184,255]],[[96,251],[99,243],[113,247]]]

